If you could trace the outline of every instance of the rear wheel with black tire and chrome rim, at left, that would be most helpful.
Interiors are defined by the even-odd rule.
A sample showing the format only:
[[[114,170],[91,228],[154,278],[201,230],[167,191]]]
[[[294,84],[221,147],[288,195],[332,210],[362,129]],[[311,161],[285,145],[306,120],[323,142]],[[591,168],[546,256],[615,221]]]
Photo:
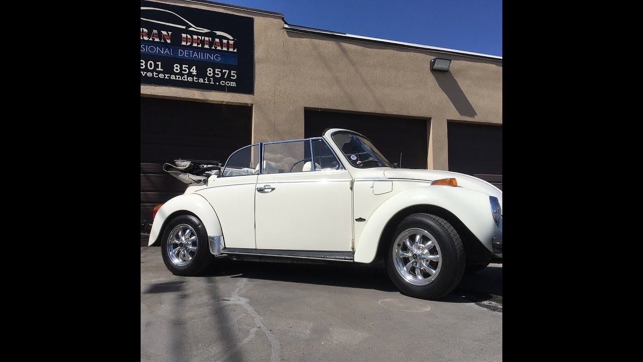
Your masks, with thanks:
[[[210,266],[213,256],[208,248],[208,233],[195,216],[176,216],[165,225],[161,254],[168,271],[193,276]]]

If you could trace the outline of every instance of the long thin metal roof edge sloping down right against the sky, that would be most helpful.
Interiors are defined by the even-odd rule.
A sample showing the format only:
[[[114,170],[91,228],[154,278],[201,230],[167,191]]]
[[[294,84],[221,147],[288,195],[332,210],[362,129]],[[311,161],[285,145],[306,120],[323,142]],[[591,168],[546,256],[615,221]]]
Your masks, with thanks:
[[[389,45],[389,46],[398,46],[401,48],[412,48],[416,50],[448,53],[448,54],[454,54],[454,55],[462,55],[464,57],[473,57],[473,58],[480,58],[480,59],[487,59],[487,60],[502,62],[502,57],[498,57],[497,55],[465,52],[464,50],[439,48],[437,46],[428,46],[428,45],[422,45],[422,44],[404,43],[402,41],[393,41],[393,40],[379,39],[379,38],[373,38],[373,37],[364,37],[361,35],[332,32],[331,30],[308,28],[307,26],[293,25],[293,24],[287,24],[287,23],[284,24],[284,28],[285,30],[290,30],[293,32],[310,33],[310,34],[327,36],[327,37],[345,38],[345,39],[351,39],[354,41],[363,41],[365,43],[376,43],[376,44],[383,44],[383,45]]]

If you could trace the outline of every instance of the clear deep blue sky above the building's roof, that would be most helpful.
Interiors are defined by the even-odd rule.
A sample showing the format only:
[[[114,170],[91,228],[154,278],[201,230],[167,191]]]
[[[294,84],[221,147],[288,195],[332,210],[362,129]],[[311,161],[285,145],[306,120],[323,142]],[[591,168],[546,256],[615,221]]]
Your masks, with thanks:
[[[219,0],[289,24],[502,57],[502,0]]]

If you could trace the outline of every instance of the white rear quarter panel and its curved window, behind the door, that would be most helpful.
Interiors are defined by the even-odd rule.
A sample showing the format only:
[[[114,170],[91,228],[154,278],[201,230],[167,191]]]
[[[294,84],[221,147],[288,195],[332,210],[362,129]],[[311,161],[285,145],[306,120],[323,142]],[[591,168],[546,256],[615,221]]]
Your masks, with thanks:
[[[255,249],[255,187],[260,145],[235,151],[208,187],[195,193],[212,205],[223,231],[225,247]]]

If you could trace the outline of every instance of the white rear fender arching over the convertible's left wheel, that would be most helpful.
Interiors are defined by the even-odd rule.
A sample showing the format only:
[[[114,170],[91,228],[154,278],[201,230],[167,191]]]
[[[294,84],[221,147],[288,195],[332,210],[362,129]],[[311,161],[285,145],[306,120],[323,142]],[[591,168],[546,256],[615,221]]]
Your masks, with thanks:
[[[190,211],[201,220],[205,226],[208,236],[222,236],[221,223],[219,217],[215,213],[212,205],[201,195],[190,193],[170,198],[168,202],[163,204],[156,213],[154,223],[152,224],[152,231],[150,231],[150,241],[148,246],[154,245],[161,236],[163,225],[167,221],[168,216],[176,213],[177,211]]]

